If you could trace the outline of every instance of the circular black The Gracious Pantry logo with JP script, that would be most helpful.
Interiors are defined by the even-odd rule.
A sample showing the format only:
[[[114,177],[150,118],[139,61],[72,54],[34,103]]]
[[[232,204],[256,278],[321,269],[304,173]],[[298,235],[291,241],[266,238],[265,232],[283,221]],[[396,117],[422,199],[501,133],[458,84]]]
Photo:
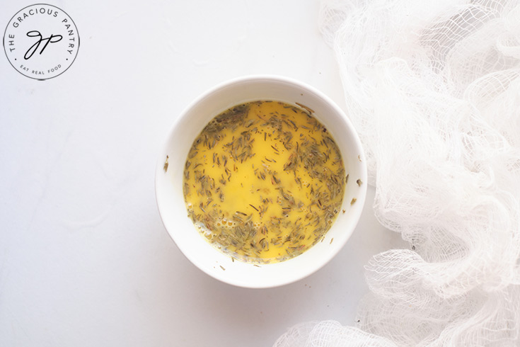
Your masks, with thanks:
[[[25,13],[25,10],[26,10],[27,8],[30,8],[30,7],[33,7],[33,6],[48,6],[48,8],[52,8],[52,11],[55,11],[54,13],[56,13],[56,11],[61,12],[61,13],[59,13],[59,14],[63,14],[63,15],[64,15],[64,20],[62,21],[62,23],[67,23],[67,24],[64,24],[64,26],[68,25],[69,27],[72,27],[72,30],[69,30],[69,28],[64,29],[64,33],[69,33],[69,35],[71,35],[70,32],[72,31],[73,33],[75,32],[75,33],[76,33],[76,36],[77,36],[77,40],[75,40],[76,38],[74,38],[74,44],[73,44],[73,45],[75,46],[75,47],[74,47],[74,48],[75,48],[75,53],[74,53],[74,57],[71,59],[70,63],[68,62],[69,59],[66,59],[66,60],[67,60],[67,66],[61,67],[61,64],[56,65],[56,67],[59,66],[59,68],[56,69],[56,70],[54,70],[54,64],[51,64],[51,65],[53,65],[53,66],[52,66],[52,68],[49,68],[49,69],[48,69],[48,73],[49,73],[48,76],[47,76],[47,75],[46,75],[46,76],[40,76],[39,74],[36,74],[36,76],[31,76],[31,74],[30,74],[30,70],[31,70],[31,69],[28,69],[27,67],[25,67],[25,69],[24,69],[23,64],[21,65],[20,68],[16,67],[16,65],[13,64],[13,62],[11,61],[11,58],[10,58],[10,56],[8,55],[8,52],[7,52],[8,49],[12,52],[12,50],[11,50],[11,46],[14,46],[13,43],[12,43],[12,42],[14,42],[14,41],[13,41],[14,35],[13,35],[12,38],[11,38],[11,37],[9,37],[9,38],[7,37],[7,35],[8,35],[8,28],[9,28],[9,25],[11,25],[11,24],[13,24],[13,23],[18,23],[18,25],[16,25],[16,26],[13,25],[14,28],[18,28],[18,26],[19,26],[20,23],[21,23],[21,20],[20,20],[19,18],[21,18],[21,16],[24,16],[24,20],[25,20],[25,18],[28,17],[27,14]],[[44,12],[41,12],[41,11],[40,11],[40,14],[43,13],[42,16],[45,16],[45,13],[47,13],[48,8],[45,8],[45,11],[44,11]],[[36,14],[38,13],[38,12],[37,12],[38,9],[41,10],[42,8],[35,8],[35,13],[36,13]],[[31,10],[32,10],[32,9],[31,9]],[[31,10],[29,10],[29,11],[27,11],[27,12],[30,12]],[[50,15],[50,14],[52,14],[52,13],[47,13],[47,14]],[[34,15],[34,13],[30,13],[30,16],[33,16],[33,15]],[[18,22],[14,21],[15,18],[16,18],[17,16],[18,16]],[[57,17],[57,14],[56,14],[55,16],[53,16],[53,17]],[[59,18],[59,19],[62,19],[62,18]],[[29,33],[33,33],[33,34],[31,34],[31,35],[34,35],[34,36],[30,36],[30,35],[28,35]],[[37,33],[37,34],[36,34],[36,33]],[[50,43],[59,42],[59,41],[62,40],[62,38],[63,38],[62,35],[54,35],[54,34],[51,35],[49,38],[42,38],[42,35],[41,35],[40,32],[37,31],[37,30],[33,30],[33,31],[28,32],[28,33],[27,33],[27,36],[29,36],[29,37],[37,37],[37,36],[38,36],[38,37],[40,38],[40,40],[39,40],[39,41],[36,41],[36,42],[33,44],[33,46],[30,47],[29,50],[28,50],[27,52],[25,52],[25,55],[23,56],[23,58],[24,58],[25,60],[29,59],[32,55],[34,55],[34,53],[36,52],[36,50],[38,50],[38,49],[40,48],[40,43],[42,43],[42,46],[43,46],[43,47],[40,48],[40,50],[39,50],[39,51],[40,51],[40,55],[41,55],[42,52],[43,52],[43,50],[45,50],[45,48],[47,47],[47,45],[49,45]],[[57,40],[57,36],[59,36],[59,40]],[[54,40],[54,41],[53,41],[53,40]],[[10,45],[6,45],[6,42],[10,42]],[[14,15],[14,16],[13,16],[13,17],[8,21],[7,26],[6,26],[6,30],[4,31],[4,38],[3,38],[3,40],[2,40],[2,45],[4,46],[4,52],[5,52],[5,54],[6,54],[6,57],[7,57],[7,60],[8,60],[8,62],[9,62],[9,64],[11,64],[11,66],[12,66],[16,71],[18,71],[20,74],[23,74],[23,76],[29,77],[30,79],[37,79],[38,81],[45,81],[45,79],[52,79],[52,78],[54,78],[54,77],[56,77],[56,76],[59,76],[60,74],[63,74],[64,72],[67,71],[67,69],[69,69],[69,67],[71,67],[71,65],[72,65],[72,64],[74,63],[74,61],[76,60],[76,57],[78,56],[78,51],[79,51],[79,42],[80,42],[80,40],[79,40],[79,31],[78,31],[78,28],[76,27],[76,23],[74,23],[74,21],[72,20],[71,16],[69,16],[69,14],[68,14],[67,12],[63,11],[61,8],[59,8],[59,7],[57,7],[57,6],[50,5],[50,4],[33,4],[33,5],[25,6],[25,7],[22,8],[20,11],[16,12],[15,15]],[[71,45],[72,45],[72,44],[71,44]],[[33,47],[35,47],[34,50],[33,50]],[[67,46],[67,47],[70,47],[70,46]],[[13,50],[14,50],[14,48],[13,48]],[[28,52],[29,52],[30,50],[33,50],[33,52],[31,53],[31,55],[30,55],[29,58],[26,58],[25,56],[28,55]],[[72,54],[72,53],[69,53],[69,54]],[[14,58],[14,59],[16,60],[16,58]],[[59,59],[59,58],[57,58],[57,59]],[[51,70],[53,70],[53,71],[51,71]],[[59,72],[58,72],[58,71],[59,71]],[[53,72],[54,72],[54,74],[53,74]],[[57,73],[56,73],[56,72],[57,72]],[[33,70],[33,74],[34,74],[34,73],[35,73],[35,71]],[[36,71],[36,73],[37,73],[37,71]],[[40,74],[45,74],[45,73],[43,73],[42,71],[40,71]]]

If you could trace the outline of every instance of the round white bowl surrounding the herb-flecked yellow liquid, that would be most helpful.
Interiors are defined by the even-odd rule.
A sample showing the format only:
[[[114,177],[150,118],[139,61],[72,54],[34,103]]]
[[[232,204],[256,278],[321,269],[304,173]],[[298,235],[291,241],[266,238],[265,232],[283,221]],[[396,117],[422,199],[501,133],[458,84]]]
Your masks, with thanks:
[[[183,170],[187,153],[205,125],[222,111],[255,100],[301,103],[314,110],[337,142],[349,174],[342,210],[325,239],[299,256],[280,263],[232,261],[209,244],[187,217]],[[164,170],[168,156],[168,169]],[[359,186],[356,181],[362,181]],[[328,263],[345,245],[361,215],[366,197],[366,164],[357,132],[343,111],[320,91],[281,76],[246,76],[214,87],[188,106],[173,124],[161,149],[155,178],[163,224],[180,251],[202,271],[231,285],[270,288],[305,278]],[[352,199],[357,199],[351,205]]]

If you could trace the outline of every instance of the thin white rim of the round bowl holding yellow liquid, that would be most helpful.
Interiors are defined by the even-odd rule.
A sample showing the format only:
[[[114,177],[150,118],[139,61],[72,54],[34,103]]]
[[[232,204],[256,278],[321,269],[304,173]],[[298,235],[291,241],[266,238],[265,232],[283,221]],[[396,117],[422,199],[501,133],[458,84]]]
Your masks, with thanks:
[[[315,266],[313,266],[309,271],[306,271],[297,276],[289,275],[286,278],[284,278],[283,280],[277,281],[276,283],[265,283],[263,285],[262,284],[248,285],[248,283],[243,283],[239,279],[229,278],[229,276],[227,276],[224,272],[219,273],[216,271],[215,272],[208,271],[206,268],[199,265],[199,262],[196,257],[192,256],[192,254],[189,254],[189,253],[187,254],[185,251],[183,251],[183,247],[179,246],[178,241],[175,239],[175,237],[173,235],[173,232],[171,232],[168,229],[168,227],[166,227],[166,224],[164,222],[164,216],[163,216],[164,211],[161,210],[161,205],[158,200],[159,175],[162,174],[163,165],[164,165],[164,157],[163,157],[162,152],[164,151],[164,149],[166,149],[166,145],[168,144],[171,137],[173,136],[175,129],[177,129],[179,123],[181,123],[183,121],[183,119],[185,117],[187,117],[187,115],[190,113],[190,110],[192,110],[192,108],[195,108],[195,106],[197,106],[198,103],[200,103],[201,101],[204,101],[205,98],[211,96],[213,93],[216,93],[217,91],[224,89],[226,87],[232,86],[233,84],[241,84],[244,82],[255,82],[255,81],[258,81],[258,82],[271,81],[271,82],[282,82],[285,84],[291,84],[294,87],[298,87],[298,88],[304,89],[306,91],[311,91],[316,96],[318,96],[318,98],[320,98],[324,103],[326,103],[328,106],[330,106],[330,108],[333,108],[335,110],[335,113],[337,113],[338,115],[341,116],[342,122],[344,122],[346,124],[346,127],[349,128],[349,130],[350,130],[349,136],[354,137],[352,140],[354,140],[354,142],[357,144],[357,147],[359,149],[359,156],[360,156],[359,160],[361,161],[361,164],[362,164],[360,176],[362,178],[364,178],[364,182],[366,181],[368,169],[366,166],[366,160],[364,157],[364,150],[362,147],[362,142],[359,139],[359,135],[357,134],[357,130],[355,129],[354,125],[352,124],[352,121],[348,118],[345,111],[342,110],[342,108],[340,108],[340,106],[337,106],[337,103],[335,103],[335,101],[333,101],[330,97],[328,97],[322,91],[316,89],[316,87],[313,87],[302,81],[298,81],[296,79],[292,79],[287,76],[281,76],[281,75],[276,75],[276,74],[250,74],[250,75],[245,75],[245,76],[239,76],[239,77],[236,77],[233,79],[228,79],[226,81],[221,81],[219,84],[212,86],[212,88],[207,89],[206,91],[201,93],[199,96],[197,96],[193,101],[188,103],[188,105],[182,110],[182,112],[179,113],[179,115],[173,121],[170,129],[166,133],[166,137],[164,138],[163,142],[161,143],[161,147],[159,150],[160,154],[157,159],[156,172],[155,172],[155,177],[154,177],[154,188],[155,188],[154,190],[155,190],[156,205],[158,207],[158,212],[161,217],[161,222],[163,223],[163,226],[166,229],[166,232],[168,232],[168,235],[171,237],[171,239],[173,240],[175,245],[180,250],[181,254],[183,254],[190,261],[190,263],[195,265],[197,268],[199,268],[201,271],[203,271],[207,275],[211,276],[212,278],[215,278],[216,280],[219,280],[224,283],[228,283],[230,285],[235,285],[235,286],[242,287],[242,288],[275,288],[275,287],[279,287],[282,285],[288,285],[290,283],[294,283],[298,280],[302,280],[302,279],[308,277],[309,275],[316,273],[316,271],[320,270],[320,268],[323,268],[323,266],[325,266],[327,263],[329,263],[337,255],[337,253],[339,253],[341,251],[341,249],[343,249],[343,247],[345,246],[345,244],[347,243],[349,238],[352,236],[354,229],[356,229],[357,224],[359,223],[359,219],[361,218],[363,207],[359,208],[358,212],[350,217],[350,220],[352,220],[352,228],[350,228],[349,233],[345,237],[345,239],[342,240],[342,242],[337,242],[337,245],[335,246],[335,248],[331,249],[328,253],[323,254],[323,256],[320,256],[319,261],[316,262],[317,264]],[[202,130],[202,127],[201,127],[201,130]],[[363,206],[365,203],[365,200],[366,200],[367,184],[364,184],[362,186],[363,187],[360,187],[362,189],[359,191],[359,195],[357,195],[357,204],[361,204]],[[201,239],[201,241],[204,241],[204,240]],[[312,247],[311,247],[311,249],[312,249]],[[297,258],[297,257],[295,257],[295,258]],[[290,261],[290,259],[288,261]],[[281,262],[281,263],[284,263],[284,262]],[[279,264],[279,263],[271,263],[271,264],[267,264],[267,265],[272,266],[275,264]]]

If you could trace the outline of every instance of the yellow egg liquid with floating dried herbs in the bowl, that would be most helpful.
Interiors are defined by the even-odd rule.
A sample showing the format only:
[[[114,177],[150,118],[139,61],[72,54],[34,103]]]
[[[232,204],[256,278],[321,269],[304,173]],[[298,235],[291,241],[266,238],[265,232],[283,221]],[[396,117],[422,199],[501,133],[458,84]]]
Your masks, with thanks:
[[[340,211],[345,168],[308,108],[255,101],[217,115],[184,170],[188,216],[217,249],[272,263],[323,240]]]

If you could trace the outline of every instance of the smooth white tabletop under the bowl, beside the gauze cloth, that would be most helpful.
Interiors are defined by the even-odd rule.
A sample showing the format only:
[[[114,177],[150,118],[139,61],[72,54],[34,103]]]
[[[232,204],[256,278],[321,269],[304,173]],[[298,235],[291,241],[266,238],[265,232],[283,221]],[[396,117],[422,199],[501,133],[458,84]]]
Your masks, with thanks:
[[[403,245],[372,189],[333,261],[269,290],[195,268],[154,198],[173,120],[214,84],[281,74],[345,108],[318,2],[53,4],[79,30],[70,69],[35,81],[0,57],[0,346],[270,346],[298,322],[353,324],[364,264]],[[25,5],[4,1],[0,24]]]

